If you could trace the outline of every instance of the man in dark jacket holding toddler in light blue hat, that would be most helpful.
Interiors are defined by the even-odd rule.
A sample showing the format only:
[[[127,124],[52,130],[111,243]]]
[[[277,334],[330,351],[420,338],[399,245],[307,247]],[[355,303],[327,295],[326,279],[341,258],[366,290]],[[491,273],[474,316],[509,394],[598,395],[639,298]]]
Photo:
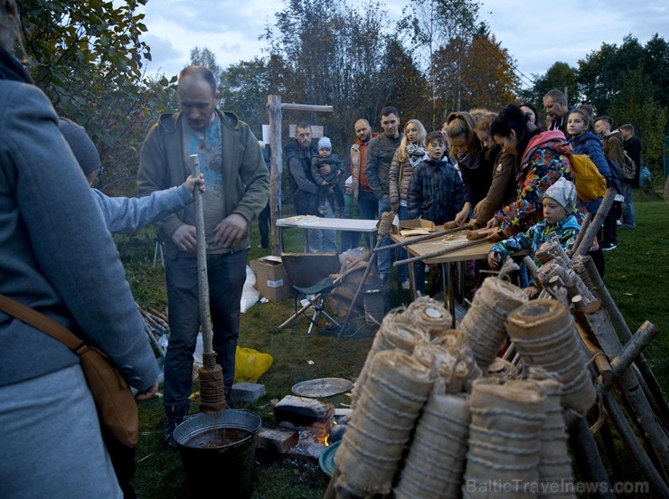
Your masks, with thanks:
[[[311,125],[302,121],[297,123],[295,137],[287,143],[284,152],[288,164],[288,185],[293,198],[295,212],[298,215],[318,215],[318,185],[311,175],[311,158],[318,155],[312,143]],[[329,174],[330,166],[325,165],[321,174]],[[325,218],[334,217],[332,202],[325,203]],[[306,247],[311,253],[334,253],[337,250],[334,231],[312,229],[306,231]]]

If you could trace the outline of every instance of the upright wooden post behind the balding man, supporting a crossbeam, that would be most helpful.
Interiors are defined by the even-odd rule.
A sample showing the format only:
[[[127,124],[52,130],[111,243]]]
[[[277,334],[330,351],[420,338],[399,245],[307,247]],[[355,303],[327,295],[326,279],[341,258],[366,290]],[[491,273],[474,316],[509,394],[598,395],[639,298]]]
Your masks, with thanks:
[[[281,96],[269,95],[269,227],[272,254],[279,256],[277,221],[281,218],[281,170],[283,157],[281,150]]]

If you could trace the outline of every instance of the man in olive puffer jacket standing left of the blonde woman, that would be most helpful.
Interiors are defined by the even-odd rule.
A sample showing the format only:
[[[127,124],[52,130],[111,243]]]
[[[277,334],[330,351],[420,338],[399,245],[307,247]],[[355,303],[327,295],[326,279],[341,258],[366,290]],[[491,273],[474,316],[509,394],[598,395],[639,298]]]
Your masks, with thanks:
[[[382,213],[391,211],[390,174],[392,156],[400,146],[403,134],[400,132],[400,114],[396,108],[382,108],[381,127],[383,133],[372,138],[364,155],[365,174],[372,192],[379,201],[379,219]],[[384,238],[382,246],[391,244],[391,238]],[[387,282],[391,274],[391,252],[379,253],[377,265],[379,275]]]

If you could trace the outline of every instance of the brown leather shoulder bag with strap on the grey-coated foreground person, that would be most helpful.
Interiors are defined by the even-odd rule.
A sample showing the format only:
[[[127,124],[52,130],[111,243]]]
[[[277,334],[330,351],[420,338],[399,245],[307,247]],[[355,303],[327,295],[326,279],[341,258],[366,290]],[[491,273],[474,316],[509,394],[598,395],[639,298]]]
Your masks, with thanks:
[[[101,427],[119,443],[136,447],[139,437],[137,402],[126,378],[108,355],[86,344],[53,319],[10,297],[0,295],[0,310],[49,334],[80,356],[81,369],[95,400]]]

